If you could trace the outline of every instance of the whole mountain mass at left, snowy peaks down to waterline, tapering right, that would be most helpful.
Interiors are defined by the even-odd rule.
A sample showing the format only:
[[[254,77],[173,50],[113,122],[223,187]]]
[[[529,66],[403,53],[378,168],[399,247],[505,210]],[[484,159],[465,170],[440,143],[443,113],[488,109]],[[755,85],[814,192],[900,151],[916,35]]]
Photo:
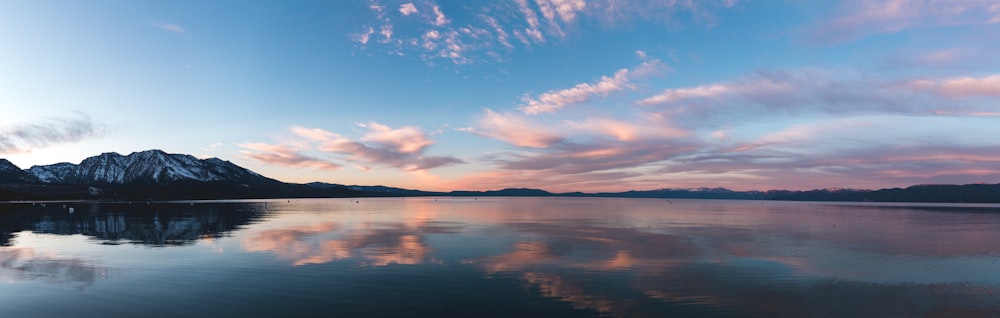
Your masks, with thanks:
[[[0,169],[9,170],[0,176],[4,178],[0,180],[0,200],[369,196],[364,191],[340,185],[316,188],[284,183],[218,158],[198,159],[161,150],[134,152],[127,156],[108,152],[84,159],[80,164],[64,162],[27,170],[10,165]]]

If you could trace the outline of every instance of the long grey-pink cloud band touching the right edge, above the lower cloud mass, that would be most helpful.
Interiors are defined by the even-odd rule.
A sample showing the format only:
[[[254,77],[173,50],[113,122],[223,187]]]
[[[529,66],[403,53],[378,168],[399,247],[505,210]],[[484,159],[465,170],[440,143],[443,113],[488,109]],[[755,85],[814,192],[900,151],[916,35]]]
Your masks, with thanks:
[[[996,109],[956,98],[998,97],[998,82],[1000,76],[995,75],[896,80],[844,70],[758,71],[729,81],[669,88],[635,104],[652,107],[686,127],[806,114],[971,115]]]

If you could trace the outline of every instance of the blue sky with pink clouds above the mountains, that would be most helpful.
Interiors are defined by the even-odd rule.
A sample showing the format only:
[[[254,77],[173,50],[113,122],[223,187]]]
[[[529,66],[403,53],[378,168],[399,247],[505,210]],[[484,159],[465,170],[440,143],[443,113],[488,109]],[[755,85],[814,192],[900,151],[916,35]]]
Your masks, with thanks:
[[[1000,183],[1000,3],[0,1],[0,158],[554,192]]]

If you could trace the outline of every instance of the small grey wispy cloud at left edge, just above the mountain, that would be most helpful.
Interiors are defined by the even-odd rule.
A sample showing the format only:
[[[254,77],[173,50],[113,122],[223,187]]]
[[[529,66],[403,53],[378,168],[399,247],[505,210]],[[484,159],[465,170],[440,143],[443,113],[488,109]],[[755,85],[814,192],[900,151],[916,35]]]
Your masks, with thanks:
[[[16,123],[0,127],[0,154],[29,153],[35,149],[103,135],[104,128],[95,125],[89,115],[81,112],[35,123]]]

